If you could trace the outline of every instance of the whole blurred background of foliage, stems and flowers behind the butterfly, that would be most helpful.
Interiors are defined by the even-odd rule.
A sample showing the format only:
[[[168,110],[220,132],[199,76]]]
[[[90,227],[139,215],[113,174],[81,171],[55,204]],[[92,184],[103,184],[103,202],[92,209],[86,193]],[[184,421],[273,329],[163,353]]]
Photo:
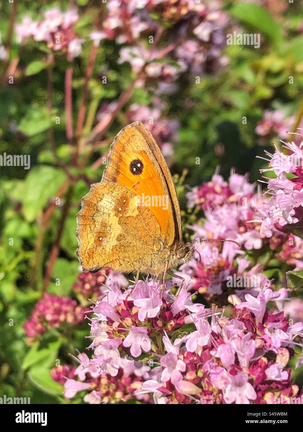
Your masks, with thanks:
[[[302,6],[0,1],[0,395],[65,402],[51,371],[89,345],[83,311],[104,280],[77,278],[76,214],[122,127],[153,133],[185,221],[188,186],[218,166],[257,181],[255,156],[303,127]]]

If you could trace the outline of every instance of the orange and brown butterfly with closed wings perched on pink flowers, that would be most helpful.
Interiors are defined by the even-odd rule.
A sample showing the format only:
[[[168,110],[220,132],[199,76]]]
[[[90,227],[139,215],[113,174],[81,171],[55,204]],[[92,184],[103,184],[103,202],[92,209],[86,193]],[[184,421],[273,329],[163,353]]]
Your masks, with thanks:
[[[115,137],[102,180],[91,185],[77,214],[77,255],[84,271],[111,267],[184,279],[172,269],[194,248],[182,240],[180,206],[164,156],[140,122]]]

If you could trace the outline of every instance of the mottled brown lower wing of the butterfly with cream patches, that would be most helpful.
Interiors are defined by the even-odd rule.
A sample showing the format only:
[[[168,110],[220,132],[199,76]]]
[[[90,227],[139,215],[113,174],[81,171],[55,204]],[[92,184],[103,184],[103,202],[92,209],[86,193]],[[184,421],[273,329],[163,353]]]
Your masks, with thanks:
[[[84,271],[144,271],[160,248],[160,227],[150,210],[137,206],[134,192],[104,181],[92,184],[82,199],[77,237]]]

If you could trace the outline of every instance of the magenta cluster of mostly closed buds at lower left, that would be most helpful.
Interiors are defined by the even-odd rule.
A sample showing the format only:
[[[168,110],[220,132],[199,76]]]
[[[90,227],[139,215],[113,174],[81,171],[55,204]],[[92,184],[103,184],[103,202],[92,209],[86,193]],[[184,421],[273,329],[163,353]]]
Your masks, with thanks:
[[[84,321],[84,308],[70,297],[45,294],[36,303],[29,321],[23,325],[26,336],[35,339],[47,329],[61,327],[64,323],[77,325]]]

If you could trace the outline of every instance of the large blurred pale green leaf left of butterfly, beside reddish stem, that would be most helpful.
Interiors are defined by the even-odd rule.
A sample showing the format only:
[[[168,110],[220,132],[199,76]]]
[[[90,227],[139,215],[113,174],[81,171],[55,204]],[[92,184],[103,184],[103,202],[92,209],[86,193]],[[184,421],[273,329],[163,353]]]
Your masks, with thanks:
[[[65,178],[64,172],[51,166],[41,165],[31,169],[26,177],[23,196],[23,212],[27,221],[32,222],[48,199],[55,197]]]

